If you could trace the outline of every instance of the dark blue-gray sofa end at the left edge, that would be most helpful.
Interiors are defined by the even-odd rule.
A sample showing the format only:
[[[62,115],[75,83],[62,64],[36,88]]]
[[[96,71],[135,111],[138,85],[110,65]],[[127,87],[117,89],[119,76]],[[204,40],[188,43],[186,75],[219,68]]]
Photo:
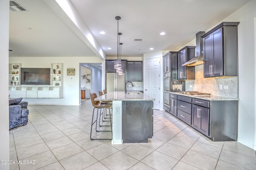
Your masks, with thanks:
[[[9,99],[9,129],[28,123],[28,102],[22,98]]]

